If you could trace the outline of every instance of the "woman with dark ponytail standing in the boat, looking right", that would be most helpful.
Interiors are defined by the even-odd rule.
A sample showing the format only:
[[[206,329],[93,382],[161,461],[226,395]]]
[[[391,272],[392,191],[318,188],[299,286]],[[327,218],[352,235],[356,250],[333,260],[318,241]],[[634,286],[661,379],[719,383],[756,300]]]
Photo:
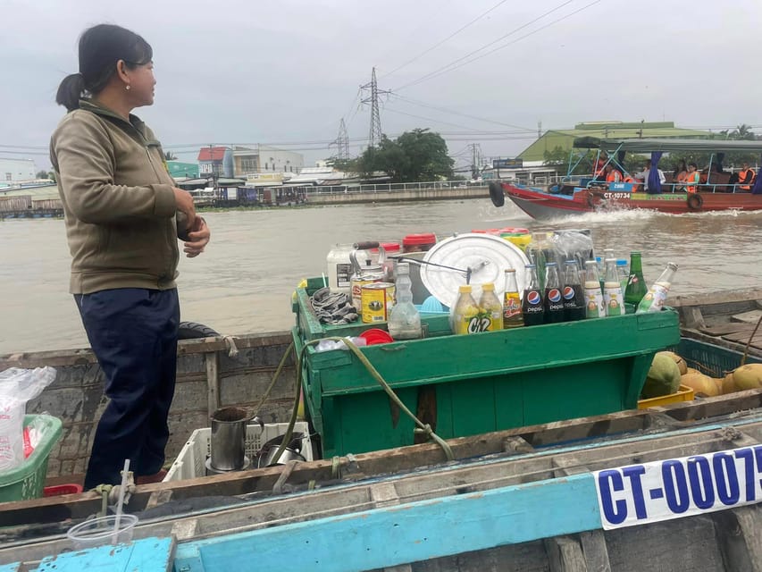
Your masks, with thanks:
[[[188,257],[209,242],[193,198],[176,189],[153,132],[130,112],[154,103],[153,50],[119,26],[80,37],[80,72],[55,101],[67,114],[50,158],[71,250],[70,291],[105,373],[109,403],[85,488],[119,483],[130,458],[138,483],[161,480],[172,404],[180,305],[178,238]]]

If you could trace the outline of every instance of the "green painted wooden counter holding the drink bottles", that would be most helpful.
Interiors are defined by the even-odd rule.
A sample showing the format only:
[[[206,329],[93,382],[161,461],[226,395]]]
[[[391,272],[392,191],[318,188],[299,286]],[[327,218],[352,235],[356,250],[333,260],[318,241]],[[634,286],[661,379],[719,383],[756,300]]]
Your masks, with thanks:
[[[309,307],[312,284],[297,290],[293,305],[297,349],[379,327],[319,324]],[[458,336],[449,334],[447,315],[422,320],[428,338],[362,351],[445,439],[637,408],[654,353],[680,341],[674,310]],[[413,422],[347,350],[308,347],[303,388],[324,458],[415,442]]]

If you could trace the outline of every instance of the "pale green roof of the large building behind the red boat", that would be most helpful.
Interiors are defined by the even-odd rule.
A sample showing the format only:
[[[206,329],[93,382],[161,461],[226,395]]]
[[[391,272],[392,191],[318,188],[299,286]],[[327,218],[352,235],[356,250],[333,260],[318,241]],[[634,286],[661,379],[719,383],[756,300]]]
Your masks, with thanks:
[[[519,155],[524,161],[543,161],[546,151],[561,147],[565,151],[572,148],[578,137],[599,139],[704,139],[709,131],[680,129],[674,122],[584,122],[574,125],[574,129],[548,130]]]

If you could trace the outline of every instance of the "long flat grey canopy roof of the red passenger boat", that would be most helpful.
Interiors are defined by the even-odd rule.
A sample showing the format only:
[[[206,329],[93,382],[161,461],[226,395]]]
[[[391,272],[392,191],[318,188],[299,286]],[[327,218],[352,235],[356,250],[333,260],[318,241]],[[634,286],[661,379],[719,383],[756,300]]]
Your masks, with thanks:
[[[650,153],[662,151],[699,151],[718,153],[727,151],[755,151],[762,153],[762,141],[736,139],[599,139],[580,137],[574,139],[574,147],[582,149],[600,149],[607,153],[629,151],[632,153]]]

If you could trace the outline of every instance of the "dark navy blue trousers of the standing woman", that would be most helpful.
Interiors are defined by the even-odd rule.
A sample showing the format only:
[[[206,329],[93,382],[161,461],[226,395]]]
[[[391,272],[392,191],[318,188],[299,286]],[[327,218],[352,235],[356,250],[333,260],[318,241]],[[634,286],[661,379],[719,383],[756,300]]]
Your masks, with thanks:
[[[124,459],[136,476],[164,463],[174,395],[177,290],[120,288],[74,296],[105,374],[109,402],[96,429],[85,489],[118,484]]]

